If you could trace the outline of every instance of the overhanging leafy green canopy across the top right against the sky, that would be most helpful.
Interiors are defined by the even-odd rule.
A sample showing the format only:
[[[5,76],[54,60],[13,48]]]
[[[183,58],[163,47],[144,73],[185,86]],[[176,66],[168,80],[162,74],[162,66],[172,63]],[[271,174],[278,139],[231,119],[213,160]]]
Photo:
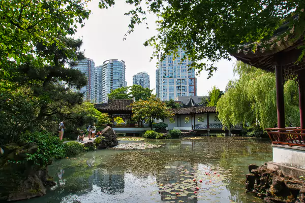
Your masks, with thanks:
[[[115,2],[100,0],[100,8],[107,9]],[[286,20],[290,29],[294,24],[295,36],[302,35],[305,30],[303,0],[127,0],[126,3],[134,6],[126,13],[131,16],[127,35],[134,31],[136,24],[146,23],[147,12],[156,14],[158,33],[144,43],[155,47],[153,57],[159,57],[161,52],[163,57],[170,53],[177,56],[178,48],[182,47],[186,50],[184,58],[188,56],[194,61],[190,67],[199,72],[208,71],[208,77],[217,70],[215,62],[223,58],[230,60],[228,52],[236,51],[239,45],[247,42],[269,40]],[[293,20],[294,13],[299,14],[299,20]],[[289,34],[290,29],[280,37]]]

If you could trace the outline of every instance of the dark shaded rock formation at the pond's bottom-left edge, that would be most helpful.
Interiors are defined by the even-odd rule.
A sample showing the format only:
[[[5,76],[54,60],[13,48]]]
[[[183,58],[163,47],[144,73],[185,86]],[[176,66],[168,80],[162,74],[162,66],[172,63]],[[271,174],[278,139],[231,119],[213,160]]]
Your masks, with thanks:
[[[46,194],[46,186],[56,184],[48,176],[47,167],[37,168],[33,162],[26,160],[28,155],[37,152],[37,144],[14,143],[2,148],[4,154],[0,156],[0,201],[43,196]]]

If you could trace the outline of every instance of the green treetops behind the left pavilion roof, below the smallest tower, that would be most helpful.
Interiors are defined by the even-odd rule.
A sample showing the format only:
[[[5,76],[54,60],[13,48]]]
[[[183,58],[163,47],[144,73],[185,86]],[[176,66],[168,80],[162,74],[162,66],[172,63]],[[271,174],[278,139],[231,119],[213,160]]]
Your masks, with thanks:
[[[112,90],[111,93],[108,94],[108,97],[115,99],[132,99],[135,97],[136,101],[140,99],[147,100],[147,98],[151,96],[152,91],[153,90],[143,88],[140,85],[133,85]]]

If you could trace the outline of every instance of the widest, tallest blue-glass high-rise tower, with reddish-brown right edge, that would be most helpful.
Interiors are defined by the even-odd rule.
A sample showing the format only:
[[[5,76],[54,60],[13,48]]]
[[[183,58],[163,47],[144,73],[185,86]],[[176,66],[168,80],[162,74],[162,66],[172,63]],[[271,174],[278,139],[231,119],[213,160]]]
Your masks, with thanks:
[[[192,61],[188,58],[181,61],[184,56],[185,51],[180,48],[175,60],[171,54],[159,61],[159,68],[156,70],[156,93],[161,100],[197,95],[195,70],[188,70]]]

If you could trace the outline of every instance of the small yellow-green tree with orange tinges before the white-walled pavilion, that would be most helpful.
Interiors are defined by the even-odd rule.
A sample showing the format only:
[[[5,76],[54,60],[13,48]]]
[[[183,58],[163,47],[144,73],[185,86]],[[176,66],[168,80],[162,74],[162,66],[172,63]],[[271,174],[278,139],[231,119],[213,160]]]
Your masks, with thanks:
[[[150,96],[147,100],[140,99],[131,104],[131,107],[133,120],[149,120],[150,129],[153,129],[154,119],[164,119],[174,115],[155,95]]]

